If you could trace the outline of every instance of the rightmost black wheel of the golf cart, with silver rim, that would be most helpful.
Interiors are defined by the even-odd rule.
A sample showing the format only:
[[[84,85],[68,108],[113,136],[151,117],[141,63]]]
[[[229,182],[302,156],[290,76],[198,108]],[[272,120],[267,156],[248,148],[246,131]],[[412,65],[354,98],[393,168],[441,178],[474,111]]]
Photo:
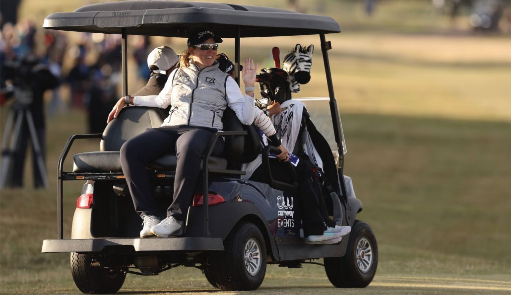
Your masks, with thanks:
[[[377,267],[378,244],[375,234],[367,223],[360,220],[355,220],[353,224],[346,254],[324,259],[328,279],[337,288],[366,287],[373,281]]]

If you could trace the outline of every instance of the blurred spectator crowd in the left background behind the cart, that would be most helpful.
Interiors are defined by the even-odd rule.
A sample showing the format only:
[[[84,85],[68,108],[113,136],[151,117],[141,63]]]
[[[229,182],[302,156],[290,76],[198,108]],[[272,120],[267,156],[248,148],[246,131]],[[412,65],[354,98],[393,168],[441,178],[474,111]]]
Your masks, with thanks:
[[[121,36],[68,33],[38,27],[30,20],[2,25],[2,92],[13,83],[5,75],[5,65],[19,64],[28,59],[35,61],[47,67],[59,80],[58,86],[52,89],[49,114],[62,113],[71,108],[87,111],[88,131],[102,133],[108,112],[121,96],[118,93],[121,79]],[[149,39],[135,36],[130,41],[133,43],[130,44],[133,58],[138,65],[137,76],[147,80]]]

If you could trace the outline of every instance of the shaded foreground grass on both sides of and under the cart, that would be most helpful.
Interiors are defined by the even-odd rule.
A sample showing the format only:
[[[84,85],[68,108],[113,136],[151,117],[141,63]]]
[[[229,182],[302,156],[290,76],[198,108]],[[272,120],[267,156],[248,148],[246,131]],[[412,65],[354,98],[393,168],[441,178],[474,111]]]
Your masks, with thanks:
[[[72,118],[79,114],[51,121],[49,127],[57,130]],[[505,246],[511,243],[511,201],[504,181],[511,177],[511,124],[367,114],[345,115],[343,122],[350,149],[346,173],[364,203],[359,218],[373,227],[380,246],[374,283],[343,292],[511,291]],[[55,146],[63,146],[65,132],[51,133]],[[56,163],[56,154],[49,161]],[[2,292],[79,293],[68,255],[40,254],[41,241],[56,236],[52,170],[51,190],[2,191]],[[67,236],[81,183],[68,184]],[[121,291],[207,293],[204,288],[209,286],[200,270],[177,268],[158,277],[128,275]],[[316,265],[270,266],[259,291],[338,292]]]

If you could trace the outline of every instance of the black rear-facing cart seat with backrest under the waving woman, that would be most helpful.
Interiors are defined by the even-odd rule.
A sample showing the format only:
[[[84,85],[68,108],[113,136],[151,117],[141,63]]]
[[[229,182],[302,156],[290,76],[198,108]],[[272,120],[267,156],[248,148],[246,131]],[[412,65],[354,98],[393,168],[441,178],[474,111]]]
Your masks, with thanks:
[[[112,120],[101,138],[101,151],[83,152],[75,154],[73,160],[74,173],[115,173],[122,172],[120,149],[121,146],[135,135],[144,132],[147,128],[156,128],[161,125],[164,115],[151,107],[124,108],[117,119]],[[253,154],[257,156],[259,145],[257,131],[250,126],[244,126],[230,108],[224,111],[222,118],[225,131],[247,130],[248,137],[233,135],[225,137],[222,157],[210,156],[208,166],[211,172],[228,173],[228,161],[250,160]],[[255,134],[255,135],[254,135]],[[254,138],[255,136],[255,138]],[[247,144],[245,144],[247,142]],[[245,146],[247,148],[245,148]],[[254,147],[255,146],[255,147]],[[146,169],[156,171],[175,171],[176,155],[166,154],[148,163]],[[251,161],[251,160],[250,160]],[[202,169],[202,162],[201,167]]]

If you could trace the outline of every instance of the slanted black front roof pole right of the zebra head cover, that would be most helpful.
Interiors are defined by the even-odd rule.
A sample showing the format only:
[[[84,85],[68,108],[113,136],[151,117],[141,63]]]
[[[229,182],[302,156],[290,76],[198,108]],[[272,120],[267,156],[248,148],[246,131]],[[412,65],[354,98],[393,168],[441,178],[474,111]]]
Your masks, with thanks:
[[[337,143],[337,150],[339,152],[339,160],[341,161],[341,169],[344,166],[344,153],[342,151],[342,127],[339,116],[339,109],[337,108],[337,101],[334,95],[334,84],[332,82],[332,72],[330,71],[330,61],[328,59],[328,50],[331,49],[330,42],[327,43],[324,34],[319,34],[321,38],[321,52],[323,53],[324,72],[327,75],[328,93],[330,96],[330,113],[332,115],[332,123],[334,126],[335,142]]]

